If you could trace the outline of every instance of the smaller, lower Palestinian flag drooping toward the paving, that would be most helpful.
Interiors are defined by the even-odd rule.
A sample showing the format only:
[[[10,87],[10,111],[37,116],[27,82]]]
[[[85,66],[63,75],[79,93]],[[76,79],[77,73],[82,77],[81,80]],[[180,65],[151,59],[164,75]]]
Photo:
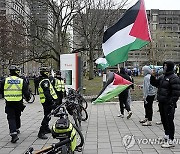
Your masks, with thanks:
[[[93,104],[103,103],[117,95],[119,95],[122,91],[128,88],[132,82],[124,79],[120,75],[116,73],[110,72],[108,74],[108,81],[104,88],[101,90],[100,94],[97,96]]]

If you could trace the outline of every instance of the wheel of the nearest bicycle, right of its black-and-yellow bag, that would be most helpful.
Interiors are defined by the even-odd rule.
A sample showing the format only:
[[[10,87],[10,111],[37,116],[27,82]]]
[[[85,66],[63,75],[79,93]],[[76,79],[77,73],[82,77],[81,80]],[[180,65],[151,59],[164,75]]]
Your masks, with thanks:
[[[73,125],[74,129],[76,130],[76,140],[77,140],[76,147],[77,148],[82,147],[84,145],[84,136],[75,124],[72,124],[72,125]]]

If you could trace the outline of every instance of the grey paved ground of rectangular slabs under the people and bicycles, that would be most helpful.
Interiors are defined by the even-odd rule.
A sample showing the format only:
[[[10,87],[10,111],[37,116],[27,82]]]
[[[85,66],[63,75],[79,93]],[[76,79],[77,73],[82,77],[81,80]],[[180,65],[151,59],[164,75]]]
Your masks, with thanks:
[[[37,101],[26,104],[22,114],[22,127],[20,140],[16,144],[10,142],[8,124],[4,113],[4,101],[0,100],[0,154],[23,154],[28,147],[32,146],[39,150],[51,143],[57,142],[49,135],[48,140],[40,140],[37,133],[42,119],[42,107]],[[179,102],[180,103],[180,102]],[[162,149],[157,138],[163,135],[162,125],[157,126],[159,112],[157,103],[154,103],[153,126],[144,127],[138,122],[144,117],[142,102],[132,103],[132,118],[118,118],[118,103],[105,103],[91,105],[89,103],[89,119],[83,122],[83,134],[85,145],[80,154],[180,154],[180,141],[175,148]],[[52,119],[51,124],[55,118]],[[176,110],[176,139],[180,139],[180,109]],[[132,136],[134,135],[134,136]],[[151,139],[151,143],[149,142]],[[178,141],[178,140],[177,140]],[[78,152],[76,152],[77,154]]]

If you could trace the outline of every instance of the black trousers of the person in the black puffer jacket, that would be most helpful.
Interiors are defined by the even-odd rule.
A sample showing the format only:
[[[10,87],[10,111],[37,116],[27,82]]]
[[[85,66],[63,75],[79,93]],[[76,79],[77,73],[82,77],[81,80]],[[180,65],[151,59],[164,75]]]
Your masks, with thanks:
[[[159,102],[159,112],[164,127],[165,135],[169,135],[169,139],[173,140],[175,133],[175,105],[170,106],[169,104],[164,104],[164,102]]]

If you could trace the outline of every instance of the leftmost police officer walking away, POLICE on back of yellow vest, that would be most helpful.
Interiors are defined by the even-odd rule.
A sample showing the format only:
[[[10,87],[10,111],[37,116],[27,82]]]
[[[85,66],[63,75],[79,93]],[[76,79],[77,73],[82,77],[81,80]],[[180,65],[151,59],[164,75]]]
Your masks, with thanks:
[[[21,112],[25,108],[23,96],[28,101],[30,99],[30,92],[27,83],[19,78],[20,69],[15,65],[11,65],[9,71],[10,76],[1,82],[1,92],[6,101],[5,112],[9,123],[11,142],[16,143],[19,140]]]

